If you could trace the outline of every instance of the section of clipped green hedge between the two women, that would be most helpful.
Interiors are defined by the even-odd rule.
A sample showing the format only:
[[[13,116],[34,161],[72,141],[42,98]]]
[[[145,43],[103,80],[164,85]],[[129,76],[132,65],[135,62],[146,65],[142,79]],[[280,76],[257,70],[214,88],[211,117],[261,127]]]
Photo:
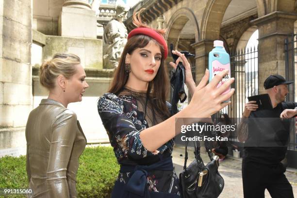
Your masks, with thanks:
[[[110,198],[119,171],[112,147],[87,148],[77,173],[79,198]]]

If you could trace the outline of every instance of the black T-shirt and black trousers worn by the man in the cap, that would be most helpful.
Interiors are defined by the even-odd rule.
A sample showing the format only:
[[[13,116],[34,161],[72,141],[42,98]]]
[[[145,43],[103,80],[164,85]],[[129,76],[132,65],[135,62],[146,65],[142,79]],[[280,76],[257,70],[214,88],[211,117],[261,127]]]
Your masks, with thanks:
[[[283,174],[285,168],[281,164],[287,151],[285,143],[289,138],[290,120],[279,118],[284,109],[294,109],[296,106],[297,103],[282,102],[271,110],[251,112],[242,162],[244,198],[264,198],[265,189],[272,198],[294,198],[292,186]],[[272,138],[273,141],[265,138]],[[283,145],[265,146],[265,143],[269,145],[271,142]],[[253,144],[255,146],[251,147]]]

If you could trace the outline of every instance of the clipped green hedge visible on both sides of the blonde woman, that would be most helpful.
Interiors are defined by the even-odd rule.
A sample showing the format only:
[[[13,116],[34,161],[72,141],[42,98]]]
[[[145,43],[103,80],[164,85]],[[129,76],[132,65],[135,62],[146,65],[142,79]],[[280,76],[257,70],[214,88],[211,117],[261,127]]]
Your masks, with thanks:
[[[86,148],[76,178],[78,198],[110,198],[118,170],[112,147]],[[28,188],[26,156],[0,158],[0,188]]]

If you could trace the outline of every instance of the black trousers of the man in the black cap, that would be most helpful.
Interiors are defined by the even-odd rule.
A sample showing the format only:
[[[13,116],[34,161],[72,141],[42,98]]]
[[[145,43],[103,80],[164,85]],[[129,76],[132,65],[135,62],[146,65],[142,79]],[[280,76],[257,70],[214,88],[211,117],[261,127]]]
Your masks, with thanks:
[[[264,198],[265,189],[268,190],[271,198],[294,198],[292,186],[283,174],[285,168],[281,163],[279,166],[243,160],[244,198]]]

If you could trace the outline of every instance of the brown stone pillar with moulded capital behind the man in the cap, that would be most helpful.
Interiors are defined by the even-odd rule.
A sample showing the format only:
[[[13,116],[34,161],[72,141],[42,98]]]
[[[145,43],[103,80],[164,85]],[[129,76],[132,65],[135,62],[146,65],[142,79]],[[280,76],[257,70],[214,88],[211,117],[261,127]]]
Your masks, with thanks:
[[[264,93],[263,83],[269,75],[285,77],[284,39],[293,33],[296,19],[296,14],[276,11],[251,21],[259,30],[259,93]]]

